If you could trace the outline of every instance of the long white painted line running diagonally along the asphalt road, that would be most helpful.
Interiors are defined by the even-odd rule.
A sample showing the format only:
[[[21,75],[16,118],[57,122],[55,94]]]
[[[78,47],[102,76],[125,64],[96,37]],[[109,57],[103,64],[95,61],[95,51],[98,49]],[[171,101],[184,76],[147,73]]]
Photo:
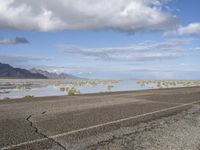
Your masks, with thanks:
[[[94,125],[94,126],[90,126],[90,127],[86,127],[86,128],[81,128],[81,129],[78,129],[78,130],[69,131],[69,132],[49,136],[49,138],[50,139],[56,139],[56,138],[59,138],[59,137],[75,134],[75,133],[78,133],[78,132],[82,132],[82,131],[86,131],[86,130],[90,130],[90,129],[95,129],[95,128],[103,127],[103,126],[106,126],[106,125],[117,124],[117,123],[120,123],[120,122],[123,122],[123,121],[137,119],[137,118],[140,118],[140,117],[145,117],[145,116],[148,116],[148,115],[153,115],[153,114],[156,114],[156,113],[161,113],[161,112],[173,110],[173,109],[176,109],[176,108],[190,106],[190,105],[194,105],[194,104],[197,104],[197,103],[200,103],[200,101],[195,101],[195,102],[192,102],[192,103],[186,103],[186,104],[182,104],[182,105],[179,105],[179,106],[165,108],[165,109],[162,109],[162,110],[157,110],[157,111],[153,111],[153,112],[149,112],[149,113],[145,113],[145,114],[140,114],[140,115],[136,115],[136,116],[132,116],[132,117],[128,117],[128,118],[123,118],[123,119],[119,119],[119,120],[115,120],[115,121],[111,121],[111,122],[107,122],[107,123],[102,123],[102,124],[98,124],[98,125]],[[6,146],[6,147],[1,148],[1,150],[9,150],[9,149],[16,148],[16,147],[23,146],[23,145],[33,144],[33,143],[37,143],[37,142],[43,142],[45,140],[48,140],[48,138],[41,138],[41,139],[31,140],[31,141],[27,141],[27,142],[15,144],[15,145]]]

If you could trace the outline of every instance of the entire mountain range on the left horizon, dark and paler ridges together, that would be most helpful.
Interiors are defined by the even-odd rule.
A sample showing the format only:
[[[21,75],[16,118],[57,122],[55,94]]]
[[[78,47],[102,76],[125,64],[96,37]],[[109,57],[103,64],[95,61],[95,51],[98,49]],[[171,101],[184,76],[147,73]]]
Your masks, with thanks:
[[[3,79],[78,79],[66,73],[51,73],[33,68],[31,70],[14,68],[9,64],[0,63],[0,78]]]

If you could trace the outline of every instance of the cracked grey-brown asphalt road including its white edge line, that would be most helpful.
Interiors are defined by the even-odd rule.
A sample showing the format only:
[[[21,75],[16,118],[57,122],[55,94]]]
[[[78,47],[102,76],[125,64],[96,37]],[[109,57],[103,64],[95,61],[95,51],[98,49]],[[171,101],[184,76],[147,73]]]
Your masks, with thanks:
[[[84,149],[80,141],[199,102],[200,87],[1,100],[0,149]]]

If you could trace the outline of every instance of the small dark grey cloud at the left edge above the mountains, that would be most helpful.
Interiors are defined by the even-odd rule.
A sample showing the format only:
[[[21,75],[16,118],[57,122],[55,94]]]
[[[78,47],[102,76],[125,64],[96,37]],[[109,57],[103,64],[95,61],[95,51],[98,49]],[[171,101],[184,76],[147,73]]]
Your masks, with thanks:
[[[29,41],[24,37],[16,38],[0,38],[0,45],[10,45],[10,44],[27,44]]]

